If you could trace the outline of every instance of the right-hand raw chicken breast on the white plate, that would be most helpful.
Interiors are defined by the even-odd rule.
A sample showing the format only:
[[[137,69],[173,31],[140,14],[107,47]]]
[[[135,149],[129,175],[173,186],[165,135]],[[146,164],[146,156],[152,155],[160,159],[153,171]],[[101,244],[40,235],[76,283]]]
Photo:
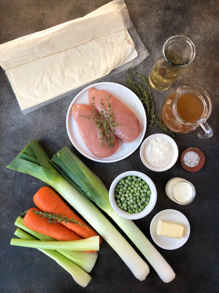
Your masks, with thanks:
[[[103,110],[100,105],[102,99],[102,107],[106,109],[108,113],[108,98],[110,93],[103,90],[96,90],[94,87],[88,89],[89,103],[95,104],[95,108],[98,112]],[[94,99],[92,100],[92,98]],[[114,121],[121,126],[115,126],[114,135],[121,139],[122,142],[132,142],[140,134],[140,123],[138,117],[133,113],[133,111],[122,103],[115,96],[111,95],[109,98],[109,103],[112,105],[112,112]]]

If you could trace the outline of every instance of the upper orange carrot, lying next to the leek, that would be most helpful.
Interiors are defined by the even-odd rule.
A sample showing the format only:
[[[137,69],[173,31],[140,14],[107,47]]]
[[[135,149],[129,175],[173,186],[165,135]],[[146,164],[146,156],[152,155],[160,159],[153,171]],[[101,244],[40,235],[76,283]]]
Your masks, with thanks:
[[[99,236],[97,232],[89,227],[81,218],[77,216],[61,199],[61,197],[50,187],[43,186],[41,187],[37,193],[33,197],[34,203],[39,209],[44,212],[49,212],[53,214],[61,214],[62,216],[69,217],[74,219],[81,224],[85,225],[86,228],[81,227],[79,224],[72,224],[72,223],[61,223],[62,225],[66,226],[68,229],[76,232],[78,235],[82,236],[83,238],[88,238],[91,236]],[[100,244],[102,243],[102,238],[100,237]]]

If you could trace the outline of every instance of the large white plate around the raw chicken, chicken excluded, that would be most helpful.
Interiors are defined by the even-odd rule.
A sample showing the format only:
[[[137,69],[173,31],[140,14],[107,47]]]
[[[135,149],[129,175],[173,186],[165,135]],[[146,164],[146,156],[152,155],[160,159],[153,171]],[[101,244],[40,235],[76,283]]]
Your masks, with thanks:
[[[88,104],[88,88],[91,88],[92,86],[95,86],[97,90],[105,90],[111,93],[112,95],[116,96],[119,100],[121,100],[124,104],[126,104],[133,110],[133,112],[135,113],[135,115],[137,115],[140,122],[139,136],[133,142],[129,143],[122,143],[119,140],[119,149],[116,151],[115,154],[106,158],[97,158],[93,154],[91,154],[91,152],[84,144],[83,139],[81,138],[81,135],[78,131],[78,127],[72,114],[73,105],[79,103]],[[113,82],[99,82],[97,84],[92,84],[91,86],[84,88],[80,93],[77,94],[77,96],[70,104],[66,117],[66,127],[68,136],[74,147],[88,159],[102,163],[116,162],[130,156],[142,142],[142,139],[145,135],[146,125],[147,119],[145,110],[139,98],[130,89],[126,88],[125,86],[122,86],[121,84],[115,84]]]

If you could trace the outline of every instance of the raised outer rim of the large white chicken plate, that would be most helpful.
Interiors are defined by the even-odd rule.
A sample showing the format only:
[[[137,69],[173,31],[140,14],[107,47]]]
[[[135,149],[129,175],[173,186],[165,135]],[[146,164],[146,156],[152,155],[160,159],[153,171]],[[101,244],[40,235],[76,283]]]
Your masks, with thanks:
[[[121,158],[118,158],[118,159],[114,159],[114,160],[101,160],[101,158],[93,158],[93,157],[91,157],[91,156],[89,156],[89,155],[87,155],[87,154],[85,154],[83,151],[81,151],[81,149],[80,148],[78,148],[77,147],[77,145],[74,143],[74,141],[72,140],[72,137],[71,137],[71,134],[70,134],[70,130],[69,130],[69,116],[70,116],[70,112],[71,112],[71,109],[72,109],[72,105],[73,105],[73,103],[74,103],[74,101],[75,101],[75,99],[81,94],[81,93],[83,93],[84,91],[87,91],[88,90],[88,88],[91,88],[92,86],[97,86],[97,85],[99,85],[99,84],[112,84],[112,85],[116,85],[116,86],[119,86],[119,87],[121,87],[121,88],[125,88],[126,90],[128,90],[129,92],[131,92],[132,93],[132,95],[137,99],[137,100],[139,100],[139,107],[141,108],[141,110],[142,110],[142,115],[143,115],[143,125],[144,125],[144,127],[143,127],[143,130],[142,130],[142,135],[141,135],[141,137],[140,137],[140,140],[139,140],[139,142],[136,144],[136,146],[128,153],[128,154],[126,154],[125,156],[122,156]],[[140,99],[138,98],[138,96],[133,92],[133,91],[131,91],[129,88],[127,88],[126,86],[123,86],[123,85],[121,85],[121,84],[117,84],[116,82],[107,82],[107,81],[105,81],[105,82],[97,82],[97,83],[95,83],[95,84],[91,84],[91,85],[89,85],[89,86],[87,86],[86,88],[84,88],[83,90],[81,90],[74,98],[73,98],[73,100],[72,100],[72,102],[70,103],[70,105],[69,105],[69,108],[68,108],[68,111],[67,111],[67,115],[66,115],[66,128],[67,128],[67,134],[68,134],[68,137],[69,137],[69,139],[70,139],[70,141],[71,141],[71,143],[73,144],[73,146],[79,151],[79,153],[81,153],[83,156],[85,156],[86,158],[88,158],[88,159],[90,159],[90,160],[92,160],[92,161],[96,161],[96,162],[101,162],[101,163],[113,163],[113,162],[117,162],[117,161],[120,161],[120,160],[123,160],[123,159],[125,159],[125,158],[127,158],[128,156],[130,156],[139,146],[140,146],[140,144],[141,144],[141,142],[142,142],[142,140],[143,140],[143,138],[144,138],[144,136],[145,136],[145,132],[146,132],[146,127],[147,127],[147,117],[146,117],[146,113],[145,113],[145,109],[144,109],[144,106],[143,106],[143,104],[141,103],[141,101],[140,101]]]

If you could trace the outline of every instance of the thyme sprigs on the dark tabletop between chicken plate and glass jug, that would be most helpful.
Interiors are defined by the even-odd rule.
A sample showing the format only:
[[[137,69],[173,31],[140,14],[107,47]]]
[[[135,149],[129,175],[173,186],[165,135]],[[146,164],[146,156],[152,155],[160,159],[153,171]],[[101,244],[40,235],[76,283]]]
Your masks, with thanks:
[[[129,70],[127,71],[128,85],[131,87],[131,89],[134,91],[134,93],[138,96],[138,98],[142,102],[142,104],[145,108],[147,118],[150,119],[150,127],[155,122],[162,130],[164,130],[165,132],[170,134],[172,137],[175,137],[174,133],[170,129],[168,129],[164,125],[164,123],[161,122],[157,118],[157,116],[155,114],[154,100],[152,97],[152,92],[150,90],[150,86],[149,86],[147,78],[145,76],[143,76],[142,74],[138,74],[138,72],[135,71],[135,68],[133,69],[133,73],[136,76],[140,77],[146,86],[146,89],[145,89],[141,82],[134,81],[131,77]]]

